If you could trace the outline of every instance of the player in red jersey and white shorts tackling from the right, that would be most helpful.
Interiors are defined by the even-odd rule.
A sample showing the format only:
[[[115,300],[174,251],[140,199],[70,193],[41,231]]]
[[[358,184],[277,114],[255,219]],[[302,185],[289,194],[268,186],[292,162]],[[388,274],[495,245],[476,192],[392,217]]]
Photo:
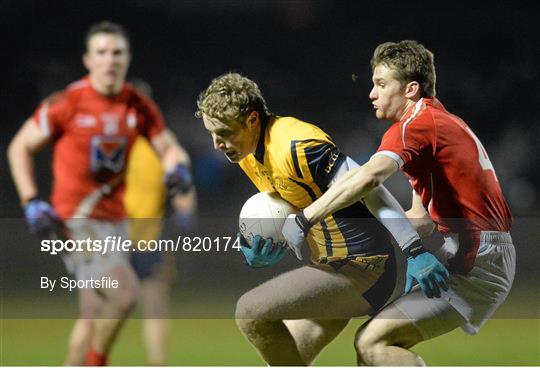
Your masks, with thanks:
[[[423,229],[433,229],[433,221],[444,235],[435,257],[452,274],[450,289],[441,290],[433,255],[423,247],[406,250],[406,289],[413,278],[420,287],[360,328],[355,347],[360,364],[423,365],[409,348],[457,327],[478,332],[506,299],[515,274],[512,215],[479,139],[435,98],[433,54],[416,41],[387,42],[375,49],[371,66],[375,114],[393,124],[366,164],[291,215],[283,233],[298,250],[312,224],[401,168],[414,189],[407,215]]]

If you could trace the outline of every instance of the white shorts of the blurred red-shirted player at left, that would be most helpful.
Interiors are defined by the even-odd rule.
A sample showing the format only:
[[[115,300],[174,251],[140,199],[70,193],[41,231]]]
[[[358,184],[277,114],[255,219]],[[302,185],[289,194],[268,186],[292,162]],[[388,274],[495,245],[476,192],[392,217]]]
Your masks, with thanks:
[[[70,236],[74,240],[105,240],[107,236],[116,236],[119,239],[128,239],[129,221],[103,221],[96,219],[70,219],[66,221]],[[62,259],[69,273],[75,275],[77,280],[99,279],[107,271],[118,265],[130,267],[129,252],[107,251],[73,251],[62,254]]]

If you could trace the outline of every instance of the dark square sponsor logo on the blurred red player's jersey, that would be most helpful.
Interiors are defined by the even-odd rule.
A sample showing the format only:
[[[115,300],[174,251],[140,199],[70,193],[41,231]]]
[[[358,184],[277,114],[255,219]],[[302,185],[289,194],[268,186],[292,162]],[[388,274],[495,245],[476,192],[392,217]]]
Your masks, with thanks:
[[[127,137],[92,137],[90,169],[97,179],[106,180],[124,169],[127,145]]]

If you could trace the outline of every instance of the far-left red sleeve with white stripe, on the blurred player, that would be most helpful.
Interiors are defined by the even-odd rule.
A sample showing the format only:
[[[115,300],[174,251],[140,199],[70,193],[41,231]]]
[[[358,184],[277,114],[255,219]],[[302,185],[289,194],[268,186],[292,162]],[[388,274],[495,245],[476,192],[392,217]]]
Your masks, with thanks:
[[[59,136],[68,123],[70,106],[65,92],[53,93],[39,104],[34,121],[47,137]]]

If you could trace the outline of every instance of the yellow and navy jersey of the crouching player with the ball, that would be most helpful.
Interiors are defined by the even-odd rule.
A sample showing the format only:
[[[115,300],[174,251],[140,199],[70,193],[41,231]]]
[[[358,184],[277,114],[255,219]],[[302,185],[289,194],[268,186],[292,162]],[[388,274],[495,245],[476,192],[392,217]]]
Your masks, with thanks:
[[[240,161],[240,167],[259,191],[277,192],[303,209],[326,191],[345,159],[315,125],[271,117],[262,124],[255,154]],[[321,220],[307,240],[312,260],[321,263],[388,254],[391,246],[386,229],[359,202]]]

